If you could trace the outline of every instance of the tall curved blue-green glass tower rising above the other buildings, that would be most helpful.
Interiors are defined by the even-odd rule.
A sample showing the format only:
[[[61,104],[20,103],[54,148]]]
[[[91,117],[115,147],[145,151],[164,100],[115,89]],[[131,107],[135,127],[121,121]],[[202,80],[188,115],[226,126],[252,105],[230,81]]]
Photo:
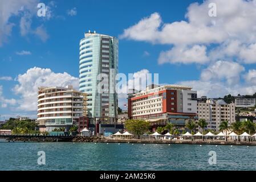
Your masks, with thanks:
[[[118,39],[89,31],[79,46],[79,91],[87,94],[88,116],[95,123],[115,122]]]

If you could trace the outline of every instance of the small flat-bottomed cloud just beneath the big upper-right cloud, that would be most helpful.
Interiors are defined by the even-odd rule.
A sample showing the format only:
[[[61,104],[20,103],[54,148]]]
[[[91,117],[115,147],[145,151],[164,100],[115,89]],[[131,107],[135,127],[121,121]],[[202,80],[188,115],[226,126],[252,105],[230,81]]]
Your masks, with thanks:
[[[159,56],[159,64],[163,63],[199,63],[209,61],[206,56],[206,47],[195,45],[188,47],[173,47],[169,51],[162,51]]]

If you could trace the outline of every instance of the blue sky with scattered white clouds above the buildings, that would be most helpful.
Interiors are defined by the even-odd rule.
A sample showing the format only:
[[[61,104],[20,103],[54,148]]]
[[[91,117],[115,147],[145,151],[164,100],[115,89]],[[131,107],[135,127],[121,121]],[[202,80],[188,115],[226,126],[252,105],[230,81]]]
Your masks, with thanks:
[[[243,0],[2,0],[0,120],[35,118],[38,86],[78,88],[88,30],[119,38],[119,73],[158,73],[159,84],[192,86],[198,97],[253,94],[255,10]]]

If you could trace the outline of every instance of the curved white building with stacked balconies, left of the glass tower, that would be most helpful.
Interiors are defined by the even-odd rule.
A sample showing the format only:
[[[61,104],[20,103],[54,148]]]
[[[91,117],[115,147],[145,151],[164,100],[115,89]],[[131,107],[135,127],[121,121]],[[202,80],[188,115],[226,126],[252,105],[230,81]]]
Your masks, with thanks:
[[[67,130],[86,116],[86,94],[72,86],[39,87],[37,121],[40,131],[52,131],[65,127]]]

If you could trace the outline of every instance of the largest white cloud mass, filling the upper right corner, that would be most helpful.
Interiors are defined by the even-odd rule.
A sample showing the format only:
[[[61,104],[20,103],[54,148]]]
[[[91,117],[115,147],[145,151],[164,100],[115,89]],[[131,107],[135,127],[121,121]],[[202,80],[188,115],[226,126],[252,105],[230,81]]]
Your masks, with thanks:
[[[216,3],[216,17],[208,15],[209,3]],[[160,63],[207,63],[206,50],[210,52],[210,59],[238,56],[243,63],[256,63],[255,9],[256,1],[207,0],[203,3],[192,3],[185,15],[187,20],[164,23],[159,13],[153,13],[125,29],[120,38],[173,45],[170,51],[161,53]],[[238,51],[240,44],[245,48]],[[203,59],[192,57],[192,60],[188,55],[183,56],[184,49],[197,45],[201,46],[200,56]],[[221,53],[216,56],[218,51]],[[181,58],[175,61],[175,55],[181,55]]]

